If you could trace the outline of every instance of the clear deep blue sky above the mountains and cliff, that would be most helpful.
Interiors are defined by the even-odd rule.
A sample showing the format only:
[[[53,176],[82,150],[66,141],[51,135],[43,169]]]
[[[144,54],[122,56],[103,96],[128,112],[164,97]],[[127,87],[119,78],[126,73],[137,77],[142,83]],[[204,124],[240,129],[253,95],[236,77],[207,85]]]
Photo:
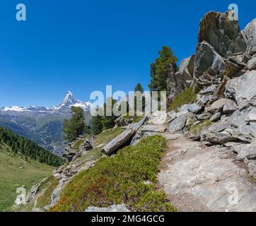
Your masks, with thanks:
[[[16,20],[19,3],[25,22]],[[1,0],[0,107],[57,105],[67,90],[85,101],[105,85],[146,90],[158,50],[189,57],[204,13],[233,3],[241,28],[256,18],[255,1]]]

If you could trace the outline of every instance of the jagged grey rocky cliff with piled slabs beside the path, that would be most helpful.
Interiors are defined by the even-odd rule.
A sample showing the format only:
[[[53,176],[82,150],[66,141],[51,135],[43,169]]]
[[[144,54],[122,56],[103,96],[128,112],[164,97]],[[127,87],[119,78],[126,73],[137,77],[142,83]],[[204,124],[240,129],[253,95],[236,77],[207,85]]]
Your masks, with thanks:
[[[180,67],[187,76],[192,71],[192,86],[197,102],[169,112],[170,133],[190,131],[209,121],[192,136],[206,145],[231,147],[256,177],[256,23],[240,30],[228,12],[209,12],[200,22],[196,52]]]

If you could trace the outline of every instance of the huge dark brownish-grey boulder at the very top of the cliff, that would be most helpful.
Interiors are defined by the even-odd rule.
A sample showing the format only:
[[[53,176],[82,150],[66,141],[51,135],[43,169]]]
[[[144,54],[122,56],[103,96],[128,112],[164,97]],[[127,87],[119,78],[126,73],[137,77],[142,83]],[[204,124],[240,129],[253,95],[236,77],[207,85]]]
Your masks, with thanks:
[[[240,32],[238,21],[229,19],[229,13],[230,11],[206,13],[200,22],[197,49],[206,41],[224,58],[234,53],[245,52],[245,37]]]

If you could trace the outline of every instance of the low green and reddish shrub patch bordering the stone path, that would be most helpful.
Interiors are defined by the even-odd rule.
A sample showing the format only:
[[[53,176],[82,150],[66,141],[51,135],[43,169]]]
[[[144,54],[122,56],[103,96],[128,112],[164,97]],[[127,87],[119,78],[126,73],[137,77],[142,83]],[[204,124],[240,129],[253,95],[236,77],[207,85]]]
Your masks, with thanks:
[[[67,184],[52,211],[84,211],[88,206],[124,203],[134,211],[176,211],[157,188],[158,165],[165,138],[151,136],[103,157]],[[150,181],[151,184],[144,183]]]

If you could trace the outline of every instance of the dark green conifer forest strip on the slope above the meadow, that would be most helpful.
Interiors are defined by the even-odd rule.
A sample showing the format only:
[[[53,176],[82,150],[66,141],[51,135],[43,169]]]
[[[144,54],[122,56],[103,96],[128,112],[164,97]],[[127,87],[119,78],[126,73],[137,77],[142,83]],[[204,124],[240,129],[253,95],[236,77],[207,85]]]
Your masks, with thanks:
[[[23,136],[18,136],[16,133],[0,127],[0,145],[4,144],[10,147],[10,151],[13,152],[14,155],[21,154],[25,157],[37,160],[40,163],[45,163],[54,167],[64,163],[62,158],[57,157],[57,155],[50,153],[50,151],[45,148],[38,146],[33,141],[29,141],[28,139],[23,138]]]

